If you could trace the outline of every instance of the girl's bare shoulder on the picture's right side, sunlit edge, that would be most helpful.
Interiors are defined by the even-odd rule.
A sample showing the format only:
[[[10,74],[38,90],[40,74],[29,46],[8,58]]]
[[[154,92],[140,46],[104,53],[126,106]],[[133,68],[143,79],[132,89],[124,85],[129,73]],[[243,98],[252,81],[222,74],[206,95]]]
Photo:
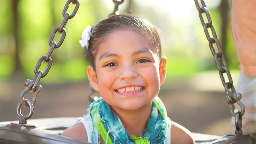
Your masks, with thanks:
[[[172,144],[195,144],[192,133],[183,126],[172,122],[171,125],[171,143]]]

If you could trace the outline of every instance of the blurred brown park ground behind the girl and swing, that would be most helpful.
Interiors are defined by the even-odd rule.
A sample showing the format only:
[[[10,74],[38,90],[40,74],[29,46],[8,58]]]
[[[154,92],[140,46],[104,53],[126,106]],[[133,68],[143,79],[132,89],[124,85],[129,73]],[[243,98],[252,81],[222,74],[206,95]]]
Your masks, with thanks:
[[[238,73],[233,74],[234,83],[237,77]],[[17,75],[0,82],[0,122],[18,120],[16,106],[26,79],[29,78]],[[80,117],[87,113],[90,104],[87,80],[41,85],[43,88],[38,94],[32,119]],[[170,119],[191,132],[220,136],[231,133],[231,115],[217,71],[197,73],[187,78],[167,78],[159,97]],[[25,98],[31,99],[32,93],[26,94]],[[21,110],[23,115],[28,113],[27,108]]]

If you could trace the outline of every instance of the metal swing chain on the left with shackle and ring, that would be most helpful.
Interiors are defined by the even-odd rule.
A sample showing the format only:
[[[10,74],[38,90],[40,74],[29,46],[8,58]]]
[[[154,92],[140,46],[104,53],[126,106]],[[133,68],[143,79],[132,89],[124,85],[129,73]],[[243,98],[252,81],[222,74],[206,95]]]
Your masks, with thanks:
[[[70,15],[70,13],[67,13],[67,10],[69,8],[69,4],[72,2],[72,4],[75,4],[75,8],[72,12],[72,14]],[[78,8],[79,8],[79,1],[78,0],[68,0],[65,4],[65,7],[62,11],[62,15],[64,16],[64,19],[61,22],[61,25],[59,27],[56,27],[55,29],[53,29],[53,32],[51,33],[50,39],[49,39],[49,45],[50,45],[50,49],[47,53],[47,55],[42,56],[41,58],[39,58],[36,66],[35,66],[35,78],[34,80],[31,79],[27,79],[24,82],[25,85],[25,89],[23,91],[21,91],[20,93],[20,102],[17,105],[17,116],[20,119],[19,120],[19,124],[21,125],[26,125],[27,124],[27,120],[31,118],[33,111],[34,111],[34,104],[36,102],[36,97],[38,95],[38,93],[41,91],[42,86],[38,85],[39,81],[41,78],[45,77],[47,75],[47,73],[49,72],[51,66],[52,66],[52,59],[51,59],[51,54],[53,53],[53,50],[56,48],[59,48],[65,37],[66,37],[66,30],[64,29],[68,19],[71,19],[75,16]],[[62,33],[62,36],[57,44],[57,42],[53,42],[53,38],[55,37],[56,33],[59,32],[59,34]],[[46,69],[43,71],[39,70],[41,63],[42,62],[48,63]],[[33,97],[32,97],[32,102],[28,99],[24,99],[24,95],[28,92],[33,92]],[[21,107],[29,107],[29,114],[26,116],[23,116],[21,113]]]

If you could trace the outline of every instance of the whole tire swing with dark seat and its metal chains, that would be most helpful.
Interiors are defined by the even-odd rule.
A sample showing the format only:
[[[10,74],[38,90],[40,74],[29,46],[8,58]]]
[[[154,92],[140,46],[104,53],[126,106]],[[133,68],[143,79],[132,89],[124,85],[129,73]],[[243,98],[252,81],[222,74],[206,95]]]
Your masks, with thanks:
[[[118,5],[123,3],[124,0],[118,1],[113,0],[115,3],[114,12],[113,14],[118,14]],[[244,114],[245,108],[243,104],[241,103],[240,99],[242,98],[241,94],[236,93],[236,90],[233,86],[232,77],[230,75],[229,69],[227,68],[226,61],[224,59],[221,45],[218,41],[216,32],[214,30],[214,27],[212,25],[212,20],[209,15],[209,12],[206,8],[206,5],[203,0],[201,0],[202,7],[200,7],[197,0],[194,0],[197,10],[199,11],[200,20],[203,25],[204,32],[206,34],[206,38],[209,41],[209,46],[212,51],[212,54],[215,59],[215,63],[218,67],[219,74],[221,77],[222,84],[224,85],[225,91],[227,93],[226,101],[230,106],[230,112],[235,117],[235,124],[236,124],[236,132],[235,134],[227,134],[223,137],[218,136],[211,136],[211,135],[205,135],[205,134],[196,134],[193,133],[195,136],[196,143],[203,144],[203,143],[222,143],[222,144],[230,144],[230,143],[237,143],[237,144],[253,144],[255,141],[250,135],[243,135],[242,134],[242,115]],[[70,13],[67,13],[67,9],[69,7],[69,4],[72,2],[72,4],[75,4],[75,8],[70,15]],[[14,143],[69,143],[69,144],[87,144],[87,142],[71,139],[68,137],[63,137],[58,134],[61,134],[64,130],[64,125],[70,125],[74,123],[74,118],[48,118],[48,119],[32,119],[29,121],[29,124],[27,124],[27,120],[31,118],[34,110],[34,104],[36,102],[36,97],[38,93],[41,91],[41,85],[38,85],[40,79],[47,75],[49,72],[51,66],[52,66],[52,59],[51,54],[53,53],[53,50],[55,48],[58,48],[62,45],[65,37],[66,37],[66,23],[68,19],[71,19],[75,16],[77,10],[79,8],[79,1],[78,0],[68,0],[65,4],[65,7],[62,11],[62,15],[64,17],[63,21],[61,22],[61,25],[59,27],[56,27],[49,39],[49,45],[50,49],[47,53],[47,55],[42,56],[35,67],[35,78],[33,80],[27,79],[24,82],[25,89],[20,93],[20,102],[17,105],[17,116],[19,117],[19,123],[15,122],[0,122],[0,143],[5,144],[14,144]],[[208,22],[205,23],[202,14],[206,13]],[[210,37],[208,28],[211,29],[213,38]],[[60,40],[58,43],[52,42],[53,38],[55,37],[55,34],[59,32],[62,34]],[[218,47],[218,52],[215,52],[215,48],[213,47],[213,44],[216,43]],[[221,63],[219,62],[221,61]],[[39,70],[41,66],[41,62],[48,63],[46,69],[44,72]],[[229,82],[226,82],[223,76],[223,73],[227,73]],[[91,92],[89,94],[90,100],[94,101],[97,97],[93,97],[93,93],[95,92],[92,87]],[[230,92],[231,89],[231,92]],[[28,92],[33,92],[33,98],[32,101],[28,99],[24,99],[24,95]],[[241,107],[241,111],[234,112],[234,103],[238,103]],[[21,107],[29,107],[29,114],[26,116],[23,116],[21,113]],[[58,122],[59,125],[54,125],[53,122]],[[33,124],[33,125],[31,125]],[[37,125],[37,127],[35,126]]]

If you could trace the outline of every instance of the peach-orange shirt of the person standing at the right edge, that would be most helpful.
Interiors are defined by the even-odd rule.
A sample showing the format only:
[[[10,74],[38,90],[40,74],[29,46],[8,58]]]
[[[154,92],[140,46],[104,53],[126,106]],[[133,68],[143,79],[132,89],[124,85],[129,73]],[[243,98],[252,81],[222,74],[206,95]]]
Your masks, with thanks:
[[[240,69],[247,76],[256,76],[256,1],[231,1],[231,29]]]

